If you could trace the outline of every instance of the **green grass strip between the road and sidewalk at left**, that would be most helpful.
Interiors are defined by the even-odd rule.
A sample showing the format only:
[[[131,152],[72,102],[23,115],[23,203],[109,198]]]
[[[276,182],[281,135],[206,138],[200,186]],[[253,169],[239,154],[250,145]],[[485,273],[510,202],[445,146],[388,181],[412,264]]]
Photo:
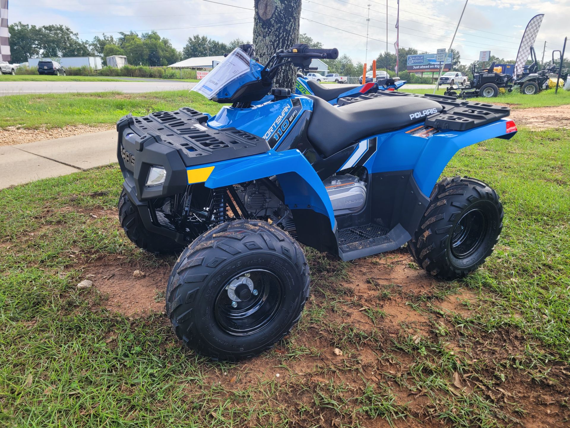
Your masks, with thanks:
[[[215,114],[221,104],[189,91],[10,95],[3,96],[0,103],[0,128],[52,128],[75,124],[115,123],[129,112],[135,116],[144,116],[153,111],[178,110],[184,106]]]

